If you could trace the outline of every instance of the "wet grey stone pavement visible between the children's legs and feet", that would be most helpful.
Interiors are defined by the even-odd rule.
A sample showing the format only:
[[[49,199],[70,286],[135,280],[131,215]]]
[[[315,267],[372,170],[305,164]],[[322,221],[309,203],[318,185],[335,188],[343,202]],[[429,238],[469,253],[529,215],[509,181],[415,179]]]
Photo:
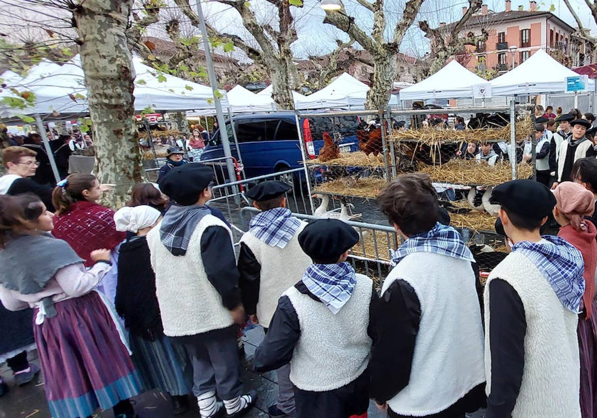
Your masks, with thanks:
[[[247,418],[267,418],[267,407],[273,404],[278,395],[278,385],[274,372],[256,373],[251,367],[253,354],[257,345],[263,339],[263,328],[256,327],[245,333],[245,354],[243,363],[242,379],[246,390],[255,390],[259,394],[255,407],[249,411]],[[35,358],[35,352],[30,354],[33,362],[39,364]],[[36,379],[28,385],[17,387],[12,380],[12,374],[2,365],[0,374],[10,386],[10,391],[0,398],[0,418],[51,418],[48,405],[44,395],[44,378],[40,373]],[[159,391],[146,392],[133,399],[134,407],[139,418],[169,418],[174,417],[167,394]],[[191,409],[179,418],[198,418],[199,409],[194,399],[189,398]],[[386,415],[377,411],[373,403],[370,405],[368,418],[383,418]],[[112,411],[99,412],[94,418],[113,418]],[[470,418],[483,418],[483,413],[475,413]],[[288,418],[294,418],[292,415]]]

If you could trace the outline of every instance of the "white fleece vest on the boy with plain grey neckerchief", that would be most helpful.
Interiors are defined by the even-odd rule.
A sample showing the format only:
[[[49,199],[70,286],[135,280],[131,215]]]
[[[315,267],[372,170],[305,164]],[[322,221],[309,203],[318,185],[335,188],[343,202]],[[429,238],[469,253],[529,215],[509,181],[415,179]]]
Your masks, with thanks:
[[[173,256],[159,239],[160,222],[147,234],[151,265],[155,272],[156,296],[164,334],[169,337],[195,335],[232,325],[230,312],[222,305],[216,288],[207,279],[201,259],[201,236],[210,226],[230,229],[208,214],[199,221],[184,256]],[[230,233],[232,245],[232,233]]]

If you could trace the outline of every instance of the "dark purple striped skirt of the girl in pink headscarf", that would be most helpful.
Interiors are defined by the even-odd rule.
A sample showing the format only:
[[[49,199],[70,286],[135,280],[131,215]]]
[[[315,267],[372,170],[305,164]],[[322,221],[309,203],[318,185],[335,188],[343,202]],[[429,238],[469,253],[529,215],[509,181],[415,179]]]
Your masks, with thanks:
[[[591,318],[578,318],[580,352],[580,411],[583,418],[597,417],[597,303]]]

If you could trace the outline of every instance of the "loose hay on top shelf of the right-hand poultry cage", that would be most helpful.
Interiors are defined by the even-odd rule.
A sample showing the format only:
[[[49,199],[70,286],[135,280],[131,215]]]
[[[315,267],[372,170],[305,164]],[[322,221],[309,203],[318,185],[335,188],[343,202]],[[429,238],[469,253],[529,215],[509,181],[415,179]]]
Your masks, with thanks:
[[[533,132],[530,118],[516,122],[516,139],[525,139]],[[424,127],[393,131],[388,137],[390,142],[420,142],[432,145],[439,142],[454,143],[465,141],[500,142],[510,140],[510,124],[503,128],[465,129],[461,131]]]

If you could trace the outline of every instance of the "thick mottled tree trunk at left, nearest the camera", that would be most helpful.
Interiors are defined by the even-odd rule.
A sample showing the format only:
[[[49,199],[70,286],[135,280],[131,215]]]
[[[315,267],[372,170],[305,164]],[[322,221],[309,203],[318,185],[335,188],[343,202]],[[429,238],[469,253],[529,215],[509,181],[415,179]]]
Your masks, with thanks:
[[[134,121],[135,70],[127,44],[133,0],[84,0],[73,12],[81,42],[96,175],[100,183],[115,185],[106,196],[114,207],[128,199],[141,180],[141,154]]]

